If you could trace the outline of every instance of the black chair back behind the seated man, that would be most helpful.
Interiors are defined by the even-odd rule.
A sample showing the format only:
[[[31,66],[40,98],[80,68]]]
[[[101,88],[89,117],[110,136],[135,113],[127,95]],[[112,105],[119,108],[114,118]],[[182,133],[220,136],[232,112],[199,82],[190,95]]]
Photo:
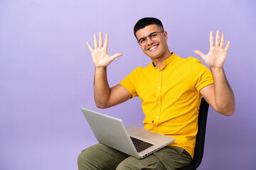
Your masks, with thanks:
[[[209,104],[204,98],[201,99],[201,105],[198,114],[198,133],[196,135],[196,147],[193,161],[190,165],[184,166],[178,170],[193,170],[197,169],[203,159],[203,147],[206,137],[206,122],[208,115]]]

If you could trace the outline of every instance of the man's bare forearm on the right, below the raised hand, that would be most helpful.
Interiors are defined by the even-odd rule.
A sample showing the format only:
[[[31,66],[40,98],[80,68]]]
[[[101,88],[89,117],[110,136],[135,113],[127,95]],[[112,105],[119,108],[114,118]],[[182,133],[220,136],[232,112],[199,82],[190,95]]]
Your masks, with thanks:
[[[213,74],[215,89],[215,104],[218,112],[223,115],[233,115],[235,112],[235,96],[223,69],[210,68]]]

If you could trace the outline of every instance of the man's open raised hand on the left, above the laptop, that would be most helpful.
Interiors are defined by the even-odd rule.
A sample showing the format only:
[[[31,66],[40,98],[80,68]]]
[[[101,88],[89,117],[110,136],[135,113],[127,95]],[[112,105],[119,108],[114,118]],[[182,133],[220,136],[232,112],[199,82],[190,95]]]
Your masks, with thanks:
[[[86,42],[87,47],[89,48],[91,54],[92,54],[92,61],[95,64],[96,68],[100,67],[107,67],[115,58],[122,56],[122,53],[116,53],[112,56],[110,56],[107,53],[107,45],[108,45],[108,35],[105,36],[105,43],[103,45],[102,40],[102,33],[99,33],[99,43],[97,42],[97,36],[94,35],[94,45],[95,50],[92,49],[92,46],[89,44],[89,42]]]

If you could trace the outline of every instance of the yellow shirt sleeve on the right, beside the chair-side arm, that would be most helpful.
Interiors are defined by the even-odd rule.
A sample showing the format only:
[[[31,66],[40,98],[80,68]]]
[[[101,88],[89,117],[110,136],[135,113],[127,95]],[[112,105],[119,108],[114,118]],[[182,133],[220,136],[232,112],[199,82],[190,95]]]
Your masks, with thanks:
[[[213,84],[213,74],[200,60],[194,60],[191,68],[195,89],[197,91],[200,91],[205,86]]]

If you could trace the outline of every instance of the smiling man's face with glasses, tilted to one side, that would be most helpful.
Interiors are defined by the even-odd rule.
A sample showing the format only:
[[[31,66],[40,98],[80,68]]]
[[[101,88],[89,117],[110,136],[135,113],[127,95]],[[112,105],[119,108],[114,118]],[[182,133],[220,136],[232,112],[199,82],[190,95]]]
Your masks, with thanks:
[[[145,38],[146,36],[150,35],[154,32],[160,32],[163,31],[161,27],[156,26],[155,24],[146,26],[140,30],[137,31],[136,37],[137,40],[140,40],[141,38]],[[167,46],[167,33],[164,31],[164,33],[158,33],[157,40],[151,40],[149,37],[146,38],[146,45],[141,46],[142,51],[145,55],[151,57],[152,60],[157,59],[159,57],[164,57],[168,50]]]

